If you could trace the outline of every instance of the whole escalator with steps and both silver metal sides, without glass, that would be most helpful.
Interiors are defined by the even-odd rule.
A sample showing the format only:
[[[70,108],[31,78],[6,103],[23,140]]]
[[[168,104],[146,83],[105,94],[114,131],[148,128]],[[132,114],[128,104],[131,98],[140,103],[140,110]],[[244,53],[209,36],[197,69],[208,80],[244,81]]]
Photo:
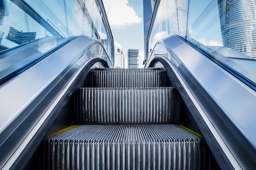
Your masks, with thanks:
[[[74,37],[3,79],[0,168],[252,167],[253,115],[238,118],[256,92],[216,61],[172,36],[146,68],[113,68],[99,41]]]

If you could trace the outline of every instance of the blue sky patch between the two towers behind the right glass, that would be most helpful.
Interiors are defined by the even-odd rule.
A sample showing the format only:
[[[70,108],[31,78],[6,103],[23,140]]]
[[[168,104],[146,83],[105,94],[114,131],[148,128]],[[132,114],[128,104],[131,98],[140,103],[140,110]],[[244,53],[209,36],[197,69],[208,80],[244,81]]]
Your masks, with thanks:
[[[189,37],[207,46],[222,46],[218,0],[189,1]]]

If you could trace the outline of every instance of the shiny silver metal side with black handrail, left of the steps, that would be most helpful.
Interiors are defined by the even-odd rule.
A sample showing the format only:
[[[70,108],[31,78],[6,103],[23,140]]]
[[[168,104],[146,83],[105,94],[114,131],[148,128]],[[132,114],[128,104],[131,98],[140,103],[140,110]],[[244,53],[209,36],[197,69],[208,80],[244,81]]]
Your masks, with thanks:
[[[104,52],[91,50],[94,45]],[[4,155],[0,158],[0,168],[9,169],[19,159],[40,124],[51,114],[54,103],[58,104],[56,98],[66,95],[65,90],[72,93],[69,85],[88,62],[89,66],[95,62],[112,66],[100,41],[79,36],[0,86],[0,150]],[[27,151],[30,152],[33,151]]]

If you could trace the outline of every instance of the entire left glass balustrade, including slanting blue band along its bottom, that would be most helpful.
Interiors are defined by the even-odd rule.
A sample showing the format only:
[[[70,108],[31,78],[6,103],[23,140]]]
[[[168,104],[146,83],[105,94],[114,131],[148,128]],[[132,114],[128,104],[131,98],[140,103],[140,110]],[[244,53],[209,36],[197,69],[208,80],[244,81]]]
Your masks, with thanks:
[[[101,41],[113,61],[114,41],[101,1],[1,0],[0,80],[80,35]]]

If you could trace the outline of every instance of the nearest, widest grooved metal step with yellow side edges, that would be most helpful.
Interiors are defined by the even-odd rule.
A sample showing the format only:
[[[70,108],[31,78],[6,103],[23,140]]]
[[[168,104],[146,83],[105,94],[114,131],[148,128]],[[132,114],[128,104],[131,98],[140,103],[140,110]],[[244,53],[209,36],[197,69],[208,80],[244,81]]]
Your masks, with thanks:
[[[46,169],[204,169],[201,135],[180,125],[79,125],[45,137]],[[183,128],[184,129],[184,128]]]

